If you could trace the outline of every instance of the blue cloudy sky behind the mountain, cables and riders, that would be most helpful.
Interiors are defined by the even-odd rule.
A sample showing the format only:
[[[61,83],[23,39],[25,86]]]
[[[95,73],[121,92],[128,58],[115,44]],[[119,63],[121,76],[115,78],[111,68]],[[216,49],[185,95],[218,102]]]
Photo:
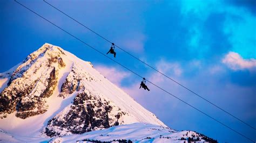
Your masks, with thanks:
[[[43,1],[19,1],[99,51],[110,44]],[[255,1],[48,1],[118,46],[256,126]],[[14,1],[1,1],[0,72],[45,42],[91,61],[101,73],[176,130],[193,130],[220,142],[248,142],[176,98],[86,47]],[[142,63],[116,50],[117,60],[184,101],[256,140],[256,131],[205,103]],[[109,55],[111,56],[111,55]],[[113,77],[114,75],[114,77]]]

